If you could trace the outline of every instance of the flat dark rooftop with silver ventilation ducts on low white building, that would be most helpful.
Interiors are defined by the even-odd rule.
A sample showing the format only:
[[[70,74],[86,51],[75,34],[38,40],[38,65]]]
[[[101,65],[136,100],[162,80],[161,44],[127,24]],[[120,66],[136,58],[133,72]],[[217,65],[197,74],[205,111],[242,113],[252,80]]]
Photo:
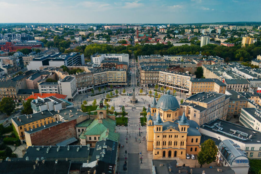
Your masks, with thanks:
[[[260,132],[253,131],[253,129],[246,128],[246,127],[240,126],[238,124],[216,119],[209,124],[205,123],[205,124],[201,125],[201,129],[205,129],[205,130],[211,131],[213,133],[226,136],[229,139],[233,139],[235,141],[240,141],[242,143],[260,144],[260,146],[261,146],[261,140],[260,140],[261,133]],[[250,135],[252,135],[251,139],[249,139]]]

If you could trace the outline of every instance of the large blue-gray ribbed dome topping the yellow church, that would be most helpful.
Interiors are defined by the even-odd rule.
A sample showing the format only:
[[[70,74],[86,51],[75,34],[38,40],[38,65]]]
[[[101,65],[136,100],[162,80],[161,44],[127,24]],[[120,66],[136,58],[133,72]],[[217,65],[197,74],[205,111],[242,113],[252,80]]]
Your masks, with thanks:
[[[159,98],[157,105],[157,109],[162,109],[163,111],[171,110],[175,111],[176,109],[179,109],[179,102],[177,101],[176,97],[170,94],[170,91],[167,91],[167,94],[163,95],[161,98]]]

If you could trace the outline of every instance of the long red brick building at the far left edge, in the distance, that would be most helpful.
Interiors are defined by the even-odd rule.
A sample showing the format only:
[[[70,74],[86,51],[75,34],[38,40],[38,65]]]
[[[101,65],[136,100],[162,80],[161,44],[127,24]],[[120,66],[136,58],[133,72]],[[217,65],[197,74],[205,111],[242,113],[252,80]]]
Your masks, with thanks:
[[[32,48],[41,48],[42,44],[41,43],[35,43],[35,44],[14,44],[11,42],[6,42],[5,44],[0,44],[1,51],[8,51],[9,52],[16,52],[19,49],[27,48],[27,49],[32,49]]]

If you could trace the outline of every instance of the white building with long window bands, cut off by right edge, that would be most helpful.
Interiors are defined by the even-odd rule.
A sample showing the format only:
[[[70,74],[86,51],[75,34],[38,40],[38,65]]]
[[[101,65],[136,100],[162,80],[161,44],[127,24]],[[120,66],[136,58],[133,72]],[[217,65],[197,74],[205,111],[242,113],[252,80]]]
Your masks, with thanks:
[[[242,123],[245,127],[254,129],[256,131],[261,131],[261,110],[257,108],[242,108],[239,122]]]

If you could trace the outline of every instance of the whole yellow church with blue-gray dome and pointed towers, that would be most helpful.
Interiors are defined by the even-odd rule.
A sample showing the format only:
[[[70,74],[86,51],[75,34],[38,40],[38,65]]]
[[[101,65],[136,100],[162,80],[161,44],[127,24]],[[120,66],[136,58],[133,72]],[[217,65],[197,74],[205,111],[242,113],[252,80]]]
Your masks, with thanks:
[[[186,158],[188,154],[198,154],[200,148],[199,125],[187,120],[185,113],[179,116],[179,103],[167,91],[159,98],[154,98],[147,111],[147,150],[153,151],[153,159],[162,157]],[[157,117],[156,117],[157,115]],[[152,116],[156,117],[153,121]]]

